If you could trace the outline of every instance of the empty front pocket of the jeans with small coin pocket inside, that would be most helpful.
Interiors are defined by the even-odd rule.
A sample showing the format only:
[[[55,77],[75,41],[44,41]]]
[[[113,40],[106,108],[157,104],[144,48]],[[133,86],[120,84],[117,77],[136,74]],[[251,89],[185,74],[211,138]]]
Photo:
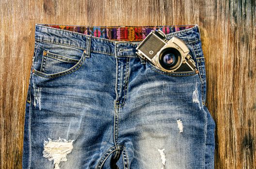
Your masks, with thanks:
[[[39,42],[33,72],[45,78],[72,73],[80,68],[86,57],[84,49],[62,44]]]

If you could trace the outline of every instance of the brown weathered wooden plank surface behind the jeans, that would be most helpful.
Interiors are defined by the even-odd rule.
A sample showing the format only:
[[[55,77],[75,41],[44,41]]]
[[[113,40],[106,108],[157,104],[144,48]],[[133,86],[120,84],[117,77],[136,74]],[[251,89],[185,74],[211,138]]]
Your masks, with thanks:
[[[0,169],[21,169],[35,23],[198,24],[215,169],[256,168],[255,0],[0,0]]]

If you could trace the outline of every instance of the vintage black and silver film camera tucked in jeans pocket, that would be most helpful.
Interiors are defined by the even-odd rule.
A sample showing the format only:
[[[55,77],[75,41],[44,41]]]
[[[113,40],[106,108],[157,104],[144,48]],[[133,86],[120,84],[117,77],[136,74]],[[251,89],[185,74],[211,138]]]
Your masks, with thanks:
[[[160,29],[151,31],[136,50],[138,56],[149,60],[163,71],[198,72],[186,44],[176,37],[168,41]]]

